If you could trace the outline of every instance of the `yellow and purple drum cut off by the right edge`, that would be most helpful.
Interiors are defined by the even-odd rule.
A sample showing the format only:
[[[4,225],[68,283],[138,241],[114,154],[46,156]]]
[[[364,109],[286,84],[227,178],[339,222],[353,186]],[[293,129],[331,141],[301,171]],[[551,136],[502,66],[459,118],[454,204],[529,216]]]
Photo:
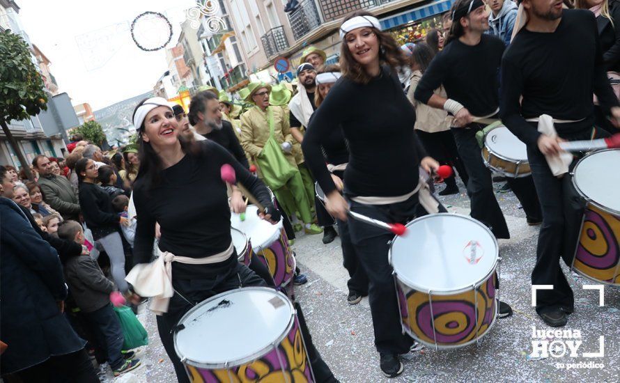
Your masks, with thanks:
[[[573,269],[614,286],[620,286],[619,168],[620,149],[607,149],[583,157],[573,169],[573,185],[587,201]]]

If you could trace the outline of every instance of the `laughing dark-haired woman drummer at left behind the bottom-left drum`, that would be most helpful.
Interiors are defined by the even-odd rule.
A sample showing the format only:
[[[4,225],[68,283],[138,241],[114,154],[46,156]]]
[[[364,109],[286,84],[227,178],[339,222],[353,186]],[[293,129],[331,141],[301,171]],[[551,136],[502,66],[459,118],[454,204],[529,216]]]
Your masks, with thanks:
[[[280,217],[263,182],[222,146],[212,141],[181,143],[178,140],[175,116],[166,100],[161,97],[144,100],[134,111],[133,119],[139,132],[142,164],[134,182],[134,203],[139,217],[134,259],[136,263],[150,262],[155,222],[161,226],[158,246],[162,253],[194,258],[192,264],[183,260],[171,263],[174,295],[167,310],[165,306],[162,308],[163,315],[157,315],[157,329],[177,378],[179,382],[189,382],[174,351],[173,330],[178,320],[192,306],[220,292],[243,286],[265,286],[263,279],[237,261],[226,184],[220,173],[222,165],[233,166],[238,182],[263,204],[265,213],[260,214],[261,218],[275,223]],[[146,267],[136,266],[137,269]],[[308,331],[302,328],[302,332],[308,346]],[[310,345],[308,353],[315,375],[321,381],[330,381],[333,375],[318,354],[313,361],[313,351]]]

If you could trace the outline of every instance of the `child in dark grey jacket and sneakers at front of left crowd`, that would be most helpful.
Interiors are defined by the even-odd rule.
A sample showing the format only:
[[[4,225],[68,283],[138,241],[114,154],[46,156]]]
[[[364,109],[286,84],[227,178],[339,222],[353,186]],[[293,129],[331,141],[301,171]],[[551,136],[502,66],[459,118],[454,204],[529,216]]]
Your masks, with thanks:
[[[58,229],[59,237],[84,245],[82,225],[76,221],[65,221]],[[75,303],[86,321],[93,327],[98,342],[105,348],[107,360],[114,376],[133,370],[140,360],[132,359],[133,352],[123,356],[123,329],[112,305],[110,294],[116,290],[107,279],[98,263],[88,253],[69,258],[64,265],[65,279]]]

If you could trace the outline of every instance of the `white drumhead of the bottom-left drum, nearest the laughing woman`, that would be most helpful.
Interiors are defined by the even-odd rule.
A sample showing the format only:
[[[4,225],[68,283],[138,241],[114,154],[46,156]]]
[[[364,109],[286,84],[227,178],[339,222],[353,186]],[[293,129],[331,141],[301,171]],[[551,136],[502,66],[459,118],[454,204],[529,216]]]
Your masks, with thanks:
[[[174,347],[189,364],[234,365],[278,341],[292,316],[286,295],[271,288],[223,292],[181,318],[185,328],[176,333]]]

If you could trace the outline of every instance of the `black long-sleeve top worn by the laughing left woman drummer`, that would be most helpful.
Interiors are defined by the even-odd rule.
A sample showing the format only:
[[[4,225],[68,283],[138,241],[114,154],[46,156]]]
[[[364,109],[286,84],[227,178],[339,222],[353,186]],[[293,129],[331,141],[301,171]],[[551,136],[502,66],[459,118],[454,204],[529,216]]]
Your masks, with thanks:
[[[135,263],[150,261],[155,222],[161,227],[159,247],[162,251],[176,256],[206,258],[228,249],[231,244],[231,210],[226,184],[220,175],[223,164],[231,164],[237,181],[265,208],[274,210],[263,182],[235,161],[222,146],[212,141],[198,141],[196,145],[199,146],[196,154],[188,152],[180,162],[162,171],[160,185],[146,185],[144,178],[136,180],[134,203],[138,219],[134,239]],[[210,265],[173,262],[173,277],[193,279],[212,275],[218,269],[233,265],[237,261],[233,258]]]

